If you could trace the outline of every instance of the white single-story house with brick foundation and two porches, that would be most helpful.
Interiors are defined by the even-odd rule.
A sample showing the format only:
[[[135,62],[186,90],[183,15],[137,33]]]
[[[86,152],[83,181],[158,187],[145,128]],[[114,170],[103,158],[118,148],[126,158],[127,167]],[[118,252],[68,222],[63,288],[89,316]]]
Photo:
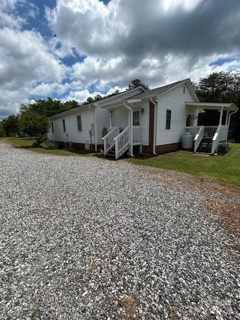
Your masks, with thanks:
[[[219,110],[218,126],[197,126],[204,109]],[[139,86],[51,116],[48,139],[85,149],[92,143],[94,150],[117,159],[124,153],[180,149],[182,134],[190,132],[194,152],[209,149],[214,154],[218,143],[226,141],[230,116],[237,109],[234,103],[199,102],[189,79],[148,91]]]

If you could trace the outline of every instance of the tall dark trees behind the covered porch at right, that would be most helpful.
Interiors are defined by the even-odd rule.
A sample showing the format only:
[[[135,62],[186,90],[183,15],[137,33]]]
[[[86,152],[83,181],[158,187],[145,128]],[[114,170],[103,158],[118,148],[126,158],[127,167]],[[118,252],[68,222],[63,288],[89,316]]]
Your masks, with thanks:
[[[193,83],[193,86],[202,102],[234,102],[238,107],[240,106],[239,71],[212,72]],[[205,113],[198,117],[198,125],[217,125],[218,118],[218,111],[205,110]],[[228,137],[240,142],[240,110],[231,117]]]

